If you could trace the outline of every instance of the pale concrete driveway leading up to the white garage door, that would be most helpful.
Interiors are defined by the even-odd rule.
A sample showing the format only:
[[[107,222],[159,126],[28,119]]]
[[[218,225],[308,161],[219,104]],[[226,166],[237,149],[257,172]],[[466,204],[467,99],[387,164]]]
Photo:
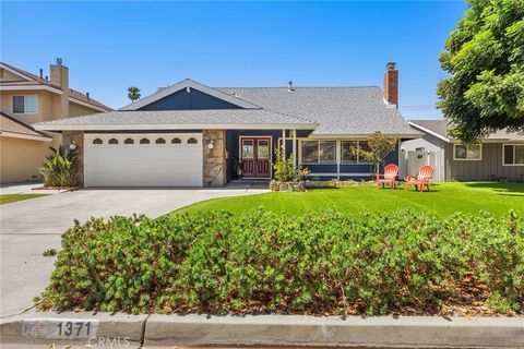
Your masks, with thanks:
[[[1,205],[0,317],[31,311],[53,269],[55,258],[41,253],[60,249],[60,236],[74,218],[133,213],[157,217],[209,198],[264,193],[265,188],[241,183],[221,189],[90,189]]]

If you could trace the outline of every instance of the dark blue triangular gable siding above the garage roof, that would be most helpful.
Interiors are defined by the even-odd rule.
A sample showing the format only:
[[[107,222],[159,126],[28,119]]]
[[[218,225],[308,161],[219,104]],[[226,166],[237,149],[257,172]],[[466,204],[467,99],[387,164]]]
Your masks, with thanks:
[[[191,88],[188,93],[180,89],[169,96],[158,99],[139,110],[189,110],[189,109],[240,109],[223,99],[210,96],[198,89]]]

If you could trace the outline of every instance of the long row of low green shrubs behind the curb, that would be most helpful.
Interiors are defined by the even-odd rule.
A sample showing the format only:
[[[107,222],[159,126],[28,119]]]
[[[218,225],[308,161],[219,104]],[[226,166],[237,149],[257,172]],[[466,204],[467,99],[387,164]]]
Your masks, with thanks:
[[[263,209],[114,217],[62,238],[41,309],[524,314],[524,219]]]

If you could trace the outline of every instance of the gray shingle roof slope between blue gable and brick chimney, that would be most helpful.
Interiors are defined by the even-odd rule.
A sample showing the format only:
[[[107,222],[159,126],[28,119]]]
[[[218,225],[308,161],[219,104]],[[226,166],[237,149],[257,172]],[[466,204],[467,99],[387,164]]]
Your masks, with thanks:
[[[416,135],[395,108],[388,108],[380,87],[217,87],[269,110],[319,123],[313,135]]]

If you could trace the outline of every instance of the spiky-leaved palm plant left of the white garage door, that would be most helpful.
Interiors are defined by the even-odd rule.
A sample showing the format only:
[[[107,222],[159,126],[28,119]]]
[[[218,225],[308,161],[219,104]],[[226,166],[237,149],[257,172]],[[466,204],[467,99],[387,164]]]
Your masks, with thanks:
[[[79,153],[76,149],[66,152],[63,146],[51,147],[51,155],[44,160],[38,169],[44,178],[45,186],[76,186],[79,184]]]

